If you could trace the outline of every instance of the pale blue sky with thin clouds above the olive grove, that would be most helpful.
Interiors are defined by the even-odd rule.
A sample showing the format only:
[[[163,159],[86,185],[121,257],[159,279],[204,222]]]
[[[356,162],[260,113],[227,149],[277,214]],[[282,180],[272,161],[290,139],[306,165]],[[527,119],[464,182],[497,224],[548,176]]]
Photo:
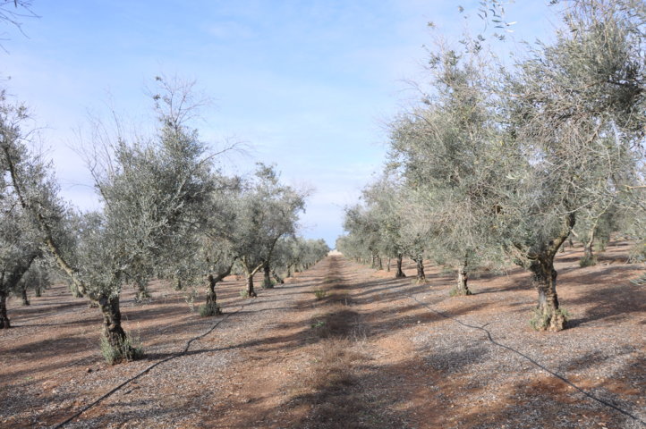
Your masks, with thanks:
[[[226,171],[276,164],[283,181],[312,189],[301,235],[334,248],[344,206],[385,161],[387,122],[417,96],[410,82],[424,80],[423,46],[453,42],[466,25],[480,31],[478,3],[33,0],[38,18],[21,19],[24,34],[0,27],[0,86],[29,106],[62,196],[88,210],[98,198],[74,147],[87,144],[89,118],[110,123],[115,112],[150,132],[154,78],[194,80],[210,100],[191,124],[200,139],[243,149],[221,159]],[[548,38],[546,3],[508,5],[517,23],[501,55]]]

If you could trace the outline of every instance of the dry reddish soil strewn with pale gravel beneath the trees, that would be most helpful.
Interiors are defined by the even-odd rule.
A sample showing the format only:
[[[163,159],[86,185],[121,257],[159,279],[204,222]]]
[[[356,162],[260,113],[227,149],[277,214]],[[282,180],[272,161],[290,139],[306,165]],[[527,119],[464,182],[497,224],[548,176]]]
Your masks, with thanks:
[[[517,269],[449,298],[455,276],[438,267],[414,284],[412,264],[395,280],[332,256],[257,299],[226,279],[210,318],[156,282],[145,305],[123,292],[146,357],[117,366],[99,354],[98,310],[58,286],[10,301],[0,426],[56,427],[123,384],[64,427],[644,427],[646,285],[631,280],[646,269],[627,251],[588,268],[581,248],[559,254],[571,327],[557,333],[531,330],[536,293]]]

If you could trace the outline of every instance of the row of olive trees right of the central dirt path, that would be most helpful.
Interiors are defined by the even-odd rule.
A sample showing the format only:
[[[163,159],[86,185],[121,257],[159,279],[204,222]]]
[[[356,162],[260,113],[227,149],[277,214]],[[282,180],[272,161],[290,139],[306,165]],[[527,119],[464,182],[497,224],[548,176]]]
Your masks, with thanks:
[[[455,267],[459,294],[470,293],[472,268],[509,258],[533,274],[535,326],[563,329],[558,249],[576,228],[590,259],[602,225],[607,234],[620,219],[644,218],[638,6],[574,2],[556,41],[514,67],[490,66],[482,51],[433,55],[432,93],[393,123],[386,179],[347,210],[339,244],[355,254],[421,250]],[[404,225],[421,232],[420,248]]]

